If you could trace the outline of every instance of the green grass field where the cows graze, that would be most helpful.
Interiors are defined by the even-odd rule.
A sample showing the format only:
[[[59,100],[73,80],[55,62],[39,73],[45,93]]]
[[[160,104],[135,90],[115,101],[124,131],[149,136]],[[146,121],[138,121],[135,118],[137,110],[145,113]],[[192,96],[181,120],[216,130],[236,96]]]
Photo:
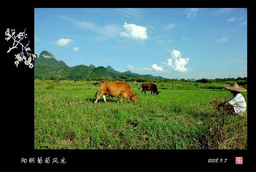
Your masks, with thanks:
[[[92,83],[35,80],[34,149],[247,149],[247,110],[216,112],[228,90],[180,82],[157,86],[157,96],[129,83],[137,104],[120,96],[94,103]]]

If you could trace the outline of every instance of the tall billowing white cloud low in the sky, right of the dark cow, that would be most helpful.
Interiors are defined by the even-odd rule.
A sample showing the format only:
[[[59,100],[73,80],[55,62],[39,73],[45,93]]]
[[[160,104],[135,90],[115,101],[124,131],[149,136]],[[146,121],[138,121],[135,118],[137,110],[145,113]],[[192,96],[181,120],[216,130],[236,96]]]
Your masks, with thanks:
[[[167,59],[166,67],[173,71],[187,73],[188,69],[185,68],[185,65],[188,64],[189,58],[181,58],[181,56],[180,51],[173,49],[171,58]]]

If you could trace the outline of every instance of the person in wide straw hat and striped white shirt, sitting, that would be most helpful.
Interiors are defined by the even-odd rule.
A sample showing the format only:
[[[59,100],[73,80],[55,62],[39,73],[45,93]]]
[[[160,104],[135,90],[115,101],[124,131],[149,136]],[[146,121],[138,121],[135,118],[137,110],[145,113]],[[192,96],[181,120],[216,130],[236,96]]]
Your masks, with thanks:
[[[245,92],[247,89],[240,87],[236,84],[236,82],[232,85],[223,85],[224,88],[230,90],[230,93],[233,94],[232,99],[228,100],[227,102],[220,103],[218,108],[225,107],[229,113],[244,115],[246,110],[246,102],[244,96],[240,92]]]

